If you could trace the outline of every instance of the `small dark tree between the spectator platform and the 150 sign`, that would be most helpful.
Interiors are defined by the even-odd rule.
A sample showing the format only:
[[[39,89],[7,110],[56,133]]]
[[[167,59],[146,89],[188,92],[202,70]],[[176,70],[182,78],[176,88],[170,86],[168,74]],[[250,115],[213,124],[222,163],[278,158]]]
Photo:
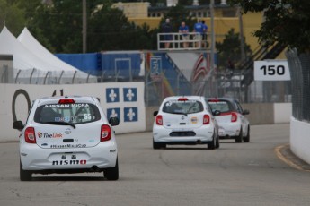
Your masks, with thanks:
[[[242,64],[239,36],[239,33],[235,33],[235,30],[231,29],[225,35],[225,39],[223,40],[223,42],[216,42],[218,67],[220,70],[225,70],[232,65],[237,68],[240,64]],[[244,51],[246,56],[252,56],[252,50],[250,45],[245,45]]]

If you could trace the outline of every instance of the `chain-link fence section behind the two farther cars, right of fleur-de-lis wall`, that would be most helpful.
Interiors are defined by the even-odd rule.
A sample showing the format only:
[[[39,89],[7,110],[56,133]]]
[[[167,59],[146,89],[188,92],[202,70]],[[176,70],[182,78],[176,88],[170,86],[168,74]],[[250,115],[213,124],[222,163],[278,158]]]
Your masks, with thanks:
[[[242,84],[243,78],[244,76],[241,71],[235,71],[233,75],[213,73],[208,80],[196,82],[184,80],[179,76],[166,77],[162,74],[155,79],[148,75],[146,76],[145,88],[146,105],[159,106],[165,97],[172,95],[230,97],[239,99],[242,103],[292,101],[290,81],[253,81],[249,86],[246,86]]]

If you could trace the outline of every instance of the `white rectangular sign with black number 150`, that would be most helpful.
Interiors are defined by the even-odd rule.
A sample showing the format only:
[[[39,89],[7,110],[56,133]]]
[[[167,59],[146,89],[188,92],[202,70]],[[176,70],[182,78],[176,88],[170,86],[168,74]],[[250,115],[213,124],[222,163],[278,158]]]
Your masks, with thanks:
[[[290,80],[288,61],[286,60],[255,61],[254,80],[256,81]]]

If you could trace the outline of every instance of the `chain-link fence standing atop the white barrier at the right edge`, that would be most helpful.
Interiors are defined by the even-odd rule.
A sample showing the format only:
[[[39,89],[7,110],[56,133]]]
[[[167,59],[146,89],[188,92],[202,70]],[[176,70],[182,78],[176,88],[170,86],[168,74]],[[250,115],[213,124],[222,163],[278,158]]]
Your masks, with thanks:
[[[293,116],[310,121],[310,55],[298,55],[296,49],[287,52],[292,82]]]

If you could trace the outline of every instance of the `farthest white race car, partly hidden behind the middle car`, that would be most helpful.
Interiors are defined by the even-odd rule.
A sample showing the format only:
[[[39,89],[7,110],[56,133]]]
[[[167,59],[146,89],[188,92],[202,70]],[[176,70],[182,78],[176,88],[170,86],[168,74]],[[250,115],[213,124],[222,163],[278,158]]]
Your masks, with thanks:
[[[250,114],[249,110],[244,110],[236,99],[230,98],[208,99],[208,104],[212,110],[221,112],[216,116],[220,139],[250,142],[250,123],[245,116]]]

